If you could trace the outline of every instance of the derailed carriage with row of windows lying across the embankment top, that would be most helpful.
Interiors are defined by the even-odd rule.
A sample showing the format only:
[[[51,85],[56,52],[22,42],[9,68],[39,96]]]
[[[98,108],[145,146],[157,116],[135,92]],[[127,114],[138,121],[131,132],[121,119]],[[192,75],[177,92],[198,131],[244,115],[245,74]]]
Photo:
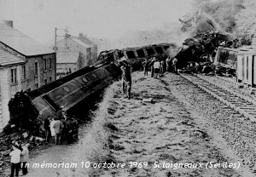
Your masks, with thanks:
[[[109,62],[118,61],[120,58],[125,57],[133,69],[137,70],[143,67],[142,63],[146,57],[166,57],[170,53],[169,49],[175,48],[177,48],[175,43],[159,43],[142,47],[113,49],[102,51],[101,54],[99,54],[98,60]]]

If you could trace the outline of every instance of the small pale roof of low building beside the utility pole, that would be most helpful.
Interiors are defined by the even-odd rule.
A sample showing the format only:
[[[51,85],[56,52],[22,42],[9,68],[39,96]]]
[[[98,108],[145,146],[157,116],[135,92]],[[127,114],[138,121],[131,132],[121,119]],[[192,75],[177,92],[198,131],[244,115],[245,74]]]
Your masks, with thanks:
[[[79,59],[79,52],[75,51],[57,51],[57,63],[74,63],[76,64]]]

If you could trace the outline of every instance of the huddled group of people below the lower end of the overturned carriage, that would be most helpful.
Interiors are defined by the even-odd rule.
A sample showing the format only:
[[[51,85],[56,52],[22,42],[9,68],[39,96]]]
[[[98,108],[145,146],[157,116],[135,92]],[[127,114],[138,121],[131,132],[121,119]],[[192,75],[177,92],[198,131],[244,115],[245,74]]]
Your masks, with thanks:
[[[68,144],[78,139],[79,123],[76,117],[70,117],[65,111],[61,111],[61,117],[48,116],[44,119],[46,141],[54,140],[56,145],[65,141]]]

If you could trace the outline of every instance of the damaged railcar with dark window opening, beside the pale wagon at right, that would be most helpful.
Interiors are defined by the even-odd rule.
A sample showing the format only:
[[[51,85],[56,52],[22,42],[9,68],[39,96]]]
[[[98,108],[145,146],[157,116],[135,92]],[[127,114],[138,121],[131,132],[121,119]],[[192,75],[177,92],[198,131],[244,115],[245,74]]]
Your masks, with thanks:
[[[237,49],[218,47],[213,65],[217,72],[236,76]]]

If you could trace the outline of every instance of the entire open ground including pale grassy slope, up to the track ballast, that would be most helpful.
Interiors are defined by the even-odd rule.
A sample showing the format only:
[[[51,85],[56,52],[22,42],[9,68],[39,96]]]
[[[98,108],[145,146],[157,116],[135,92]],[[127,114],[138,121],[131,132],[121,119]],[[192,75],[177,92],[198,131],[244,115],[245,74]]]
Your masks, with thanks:
[[[179,76],[167,73],[160,80],[138,71],[132,78],[131,100],[124,98],[120,83],[113,83],[77,144],[49,147],[29,162],[89,162],[89,168],[29,168],[27,176],[254,176],[176,89],[175,81],[187,84]],[[148,98],[153,102],[143,102]],[[112,162],[119,167],[111,168]]]

